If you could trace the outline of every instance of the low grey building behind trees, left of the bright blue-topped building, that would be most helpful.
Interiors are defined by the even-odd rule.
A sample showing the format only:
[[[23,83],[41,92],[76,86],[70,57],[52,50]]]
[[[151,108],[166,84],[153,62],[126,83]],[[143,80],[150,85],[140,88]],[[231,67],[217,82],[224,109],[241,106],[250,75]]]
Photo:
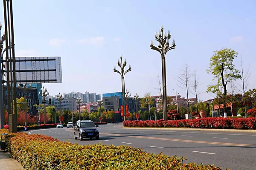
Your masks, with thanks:
[[[60,104],[57,99],[52,99],[52,104],[55,106],[56,111],[60,111]],[[61,101],[61,110],[70,110],[76,111],[76,98],[74,97],[65,97]]]

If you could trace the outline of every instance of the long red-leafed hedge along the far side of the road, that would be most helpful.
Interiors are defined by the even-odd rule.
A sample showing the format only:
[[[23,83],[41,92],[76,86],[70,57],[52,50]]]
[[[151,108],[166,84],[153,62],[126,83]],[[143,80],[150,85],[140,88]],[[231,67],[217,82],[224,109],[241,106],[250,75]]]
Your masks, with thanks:
[[[189,127],[211,129],[250,129],[256,130],[256,118],[203,118],[187,120],[147,120],[124,121],[124,127]]]

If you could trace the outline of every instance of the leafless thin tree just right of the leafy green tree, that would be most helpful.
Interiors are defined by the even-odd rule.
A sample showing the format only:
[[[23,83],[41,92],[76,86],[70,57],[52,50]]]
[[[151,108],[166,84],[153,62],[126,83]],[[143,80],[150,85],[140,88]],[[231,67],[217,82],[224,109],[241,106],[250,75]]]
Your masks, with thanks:
[[[249,79],[250,79],[250,73],[249,73],[250,67],[247,69],[247,71],[244,72],[244,68],[243,68],[243,59],[242,59],[242,55],[241,55],[241,73],[242,73],[242,85],[239,86],[242,89],[241,92],[244,93],[245,91],[247,91],[248,85],[249,85]],[[246,98],[244,97],[244,109],[245,109],[245,113],[246,113]]]

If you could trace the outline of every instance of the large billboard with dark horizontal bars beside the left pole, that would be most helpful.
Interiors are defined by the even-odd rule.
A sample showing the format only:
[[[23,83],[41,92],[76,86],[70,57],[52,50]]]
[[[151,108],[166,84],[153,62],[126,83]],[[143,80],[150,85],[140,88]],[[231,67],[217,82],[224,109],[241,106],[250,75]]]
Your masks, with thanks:
[[[61,83],[61,57],[15,57],[16,82]]]

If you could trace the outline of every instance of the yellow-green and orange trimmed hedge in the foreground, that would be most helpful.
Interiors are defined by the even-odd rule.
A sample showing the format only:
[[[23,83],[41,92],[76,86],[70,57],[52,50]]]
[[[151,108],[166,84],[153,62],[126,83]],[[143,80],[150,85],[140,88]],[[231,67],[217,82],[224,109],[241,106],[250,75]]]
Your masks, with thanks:
[[[221,170],[214,165],[183,164],[184,157],[150,154],[140,148],[101,143],[78,145],[39,134],[9,134],[8,150],[29,170]]]

